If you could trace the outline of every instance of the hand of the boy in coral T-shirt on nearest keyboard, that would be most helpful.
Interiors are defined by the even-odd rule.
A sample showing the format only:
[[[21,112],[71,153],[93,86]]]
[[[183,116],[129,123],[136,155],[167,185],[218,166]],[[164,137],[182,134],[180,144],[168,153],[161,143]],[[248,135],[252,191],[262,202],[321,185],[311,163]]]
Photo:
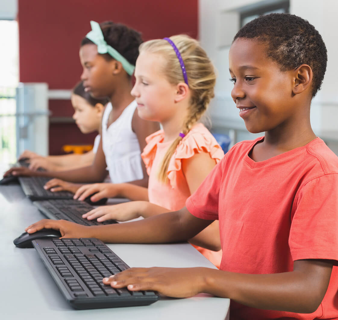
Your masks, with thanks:
[[[168,297],[192,297],[204,291],[204,273],[208,268],[130,268],[109,278],[105,285],[113,288],[127,287],[130,291],[154,290]],[[217,270],[218,271],[218,270]]]

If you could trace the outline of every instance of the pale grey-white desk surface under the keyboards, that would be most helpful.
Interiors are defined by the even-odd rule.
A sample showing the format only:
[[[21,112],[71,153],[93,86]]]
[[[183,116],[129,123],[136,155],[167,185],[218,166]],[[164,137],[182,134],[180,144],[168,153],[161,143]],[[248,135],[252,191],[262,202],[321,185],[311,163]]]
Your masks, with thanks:
[[[35,249],[20,249],[13,240],[44,216],[19,185],[0,186],[0,317],[48,320],[189,320],[228,319],[229,299],[200,294],[188,299],[162,298],[149,306],[74,310],[69,306]],[[213,267],[188,243],[110,244],[131,267]]]

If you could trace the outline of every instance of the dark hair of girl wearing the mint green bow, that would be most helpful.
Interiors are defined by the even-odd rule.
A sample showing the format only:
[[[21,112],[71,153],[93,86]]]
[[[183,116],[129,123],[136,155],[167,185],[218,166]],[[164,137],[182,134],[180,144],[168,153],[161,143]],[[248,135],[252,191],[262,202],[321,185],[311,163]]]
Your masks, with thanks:
[[[118,51],[131,64],[135,65],[139,55],[139,46],[143,42],[141,33],[124,24],[112,21],[101,22],[100,27],[106,43]],[[87,44],[93,44],[93,42],[84,37],[80,46]],[[114,59],[108,53],[103,54],[103,56],[107,61]]]

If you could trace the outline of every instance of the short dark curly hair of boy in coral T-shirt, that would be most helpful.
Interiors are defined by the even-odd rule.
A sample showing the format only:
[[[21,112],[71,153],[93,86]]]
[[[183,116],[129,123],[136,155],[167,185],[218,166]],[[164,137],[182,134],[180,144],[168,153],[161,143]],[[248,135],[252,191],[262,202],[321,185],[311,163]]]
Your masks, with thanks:
[[[269,14],[244,25],[237,38],[257,38],[267,45],[267,56],[280,64],[282,71],[308,64],[313,72],[314,97],[320,89],[328,60],[324,41],[309,21],[290,14]]]

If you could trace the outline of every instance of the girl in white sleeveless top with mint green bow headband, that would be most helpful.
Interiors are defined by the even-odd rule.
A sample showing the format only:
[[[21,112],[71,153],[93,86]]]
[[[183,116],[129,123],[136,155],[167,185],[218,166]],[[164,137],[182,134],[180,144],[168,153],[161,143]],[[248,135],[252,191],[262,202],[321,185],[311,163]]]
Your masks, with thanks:
[[[159,124],[138,116],[137,103],[130,95],[131,75],[142,43],[140,33],[125,25],[91,21],[92,31],[82,40],[79,51],[83,66],[84,90],[93,98],[108,97],[102,116],[101,140],[92,165],[67,171],[32,171],[11,168],[5,175],[46,176],[48,188],[76,191],[70,182],[102,182],[109,172],[113,183],[131,182],[148,185],[148,175],[141,159],[145,138],[159,129]],[[106,170],[108,168],[108,172]]]

